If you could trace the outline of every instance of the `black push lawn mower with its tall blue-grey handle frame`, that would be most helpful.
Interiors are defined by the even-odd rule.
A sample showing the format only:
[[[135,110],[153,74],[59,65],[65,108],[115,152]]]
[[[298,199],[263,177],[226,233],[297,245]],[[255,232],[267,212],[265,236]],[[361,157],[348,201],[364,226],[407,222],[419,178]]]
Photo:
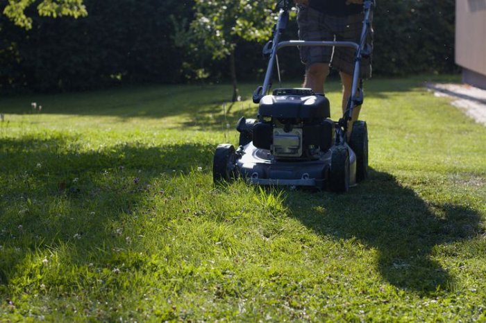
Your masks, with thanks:
[[[360,44],[355,42],[280,41],[289,21],[290,0],[278,3],[279,14],[273,40],[264,47],[269,56],[265,80],[253,93],[258,104],[256,119],[238,121],[237,149],[231,144],[217,146],[213,159],[215,183],[237,177],[251,184],[267,186],[308,186],[346,192],[368,175],[368,135],[364,121],[355,121],[347,138],[348,121],[353,108],[363,102],[360,63],[371,55],[366,42],[371,30],[370,15],[374,0],[364,0]],[[330,119],[329,101],[312,89],[280,88],[271,94],[271,79],[278,60],[277,51],[291,46],[345,46],[355,49],[351,97],[342,118]],[[280,78],[280,71],[278,71]]]

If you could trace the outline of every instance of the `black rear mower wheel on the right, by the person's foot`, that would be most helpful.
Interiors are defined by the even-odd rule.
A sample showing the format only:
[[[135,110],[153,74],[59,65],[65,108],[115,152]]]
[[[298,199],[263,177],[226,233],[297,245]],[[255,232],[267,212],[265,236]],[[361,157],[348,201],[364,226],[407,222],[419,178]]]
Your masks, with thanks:
[[[349,146],[356,154],[356,182],[368,177],[368,129],[366,122],[355,121]]]

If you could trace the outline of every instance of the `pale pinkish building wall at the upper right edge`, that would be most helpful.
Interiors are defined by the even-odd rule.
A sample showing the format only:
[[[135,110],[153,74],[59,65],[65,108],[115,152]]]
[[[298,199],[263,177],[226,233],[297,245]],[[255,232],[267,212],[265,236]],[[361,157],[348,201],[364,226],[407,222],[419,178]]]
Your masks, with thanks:
[[[486,0],[456,0],[455,19],[455,62],[486,87]]]

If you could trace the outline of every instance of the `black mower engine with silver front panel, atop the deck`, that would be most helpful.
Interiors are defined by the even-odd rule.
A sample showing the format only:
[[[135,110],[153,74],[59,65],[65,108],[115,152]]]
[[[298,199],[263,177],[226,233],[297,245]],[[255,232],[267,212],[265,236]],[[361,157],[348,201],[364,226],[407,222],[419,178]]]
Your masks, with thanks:
[[[276,89],[260,100],[258,121],[247,120],[237,130],[251,130],[253,146],[270,150],[275,159],[319,159],[334,143],[329,117],[325,96],[310,89]]]

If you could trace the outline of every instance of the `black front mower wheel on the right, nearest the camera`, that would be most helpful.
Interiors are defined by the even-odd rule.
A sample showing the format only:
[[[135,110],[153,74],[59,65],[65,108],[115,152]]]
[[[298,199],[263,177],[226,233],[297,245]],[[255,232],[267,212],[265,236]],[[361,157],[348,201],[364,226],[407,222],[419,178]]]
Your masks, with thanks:
[[[349,191],[349,151],[346,146],[335,146],[330,159],[329,188],[335,193]]]

